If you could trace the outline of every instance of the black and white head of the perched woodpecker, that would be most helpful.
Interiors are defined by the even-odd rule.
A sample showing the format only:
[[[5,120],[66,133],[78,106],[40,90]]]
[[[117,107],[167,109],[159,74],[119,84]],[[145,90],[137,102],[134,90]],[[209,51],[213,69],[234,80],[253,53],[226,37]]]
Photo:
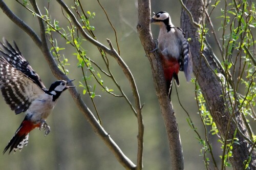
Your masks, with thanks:
[[[154,13],[152,18],[150,19],[150,22],[152,24],[156,24],[156,25],[160,25],[160,26],[165,25],[165,26],[174,27],[174,25],[172,24],[172,22],[170,20],[170,15],[165,11],[160,11],[156,14]]]

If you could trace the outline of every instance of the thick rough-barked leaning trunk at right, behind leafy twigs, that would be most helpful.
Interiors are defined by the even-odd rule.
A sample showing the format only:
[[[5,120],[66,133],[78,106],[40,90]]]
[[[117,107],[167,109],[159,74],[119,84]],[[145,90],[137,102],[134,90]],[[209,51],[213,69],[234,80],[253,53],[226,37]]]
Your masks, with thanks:
[[[193,0],[193,1],[184,1],[185,6],[191,12],[194,20],[198,24],[202,24],[203,18],[203,1]],[[242,113],[237,112],[238,109],[234,110],[233,119],[237,122],[231,121],[230,127],[228,129],[228,122],[230,120],[230,114],[227,112],[227,107],[225,106],[224,98],[221,96],[225,96],[222,93],[222,86],[221,82],[217,79],[214,73],[209,69],[207,66],[206,61],[200,55],[200,47],[201,44],[199,42],[199,35],[197,28],[191,23],[186,11],[182,9],[182,16],[181,16],[181,28],[187,35],[187,37],[191,38],[190,42],[190,51],[193,54],[193,63],[194,68],[193,72],[197,76],[197,82],[202,90],[203,96],[206,100],[208,105],[208,109],[213,117],[214,121],[217,124],[218,130],[225,139],[225,136],[228,131],[227,139],[233,139],[234,132],[238,128],[242,133],[237,133],[237,138],[239,139],[239,144],[233,144],[232,156],[230,161],[233,165],[234,169],[243,169],[244,164],[243,162],[248,159],[251,154],[251,162],[249,166],[254,169],[256,168],[256,153],[255,150],[252,148],[252,144],[248,142],[250,139],[250,135],[248,129],[246,128],[246,123],[242,118]],[[207,43],[207,42],[205,42]],[[215,70],[219,69],[214,61],[214,54],[207,45],[204,48],[203,55],[206,57],[209,66]],[[237,113],[236,113],[237,112]],[[231,118],[232,119],[232,118]],[[242,136],[242,134],[244,136]],[[253,151],[252,151],[253,150]],[[251,152],[251,153],[250,153]]]

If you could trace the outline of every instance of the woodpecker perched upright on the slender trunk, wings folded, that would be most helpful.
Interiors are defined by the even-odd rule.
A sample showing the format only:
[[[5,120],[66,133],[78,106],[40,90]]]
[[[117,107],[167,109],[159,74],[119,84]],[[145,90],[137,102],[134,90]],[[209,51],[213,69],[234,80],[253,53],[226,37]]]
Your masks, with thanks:
[[[180,84],[178,78],[179,71],[184,71],[187,81],[191,79],[192,60],[188,41],[185,33],[179,27],[173,25],[167,12],[154,13],[151,23],[160,26],[158,47],[156,49],[160,50],[167,95],[170,98],[173,78],[178,86]]]

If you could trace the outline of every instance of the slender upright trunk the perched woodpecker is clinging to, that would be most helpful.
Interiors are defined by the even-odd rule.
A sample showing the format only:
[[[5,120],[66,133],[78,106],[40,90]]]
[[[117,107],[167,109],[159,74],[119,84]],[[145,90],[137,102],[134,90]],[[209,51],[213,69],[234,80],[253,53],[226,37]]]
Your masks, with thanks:
[[[137,30],[144,47],[146,55],[150,60],[153,81],[155,84],[156,94],[160,104],[161,113],[164,119],[165,129],[169,141],[170,159],[172,169],[184,169],[184,161],[182,155],[182,146],[180,133],[175,117],[172,102],[168,99],[165,90],[165,79],[163,76],[163,68],[158,51],[152,53],[155,48],[155,43],[150,29],[151,8],[150,1],[138,1],[138,25]],[[146,18],[146,19],[145,19]]]

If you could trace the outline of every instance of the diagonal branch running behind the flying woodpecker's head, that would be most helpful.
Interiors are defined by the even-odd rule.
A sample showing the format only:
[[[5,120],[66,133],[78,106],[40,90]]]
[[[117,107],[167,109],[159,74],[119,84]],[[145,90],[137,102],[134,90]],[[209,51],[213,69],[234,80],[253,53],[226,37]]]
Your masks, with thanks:
[[[31,1],[31,4],[33,4],[34,7],[36,7],[35,1]],[[4,3],[4,1],[0,0],[0,8],[4,11],[4,13],[20,28],[22,28],[35,42],[35,44],[40,48],[42,53],[44,54],[48,65],[53,73],[53,75],[58,78],[58,79],[63,79],[63,80],[68,80],[69,78],[63,74],[57,67],[56,62],[51,55],[48,47],[46,47],[46,37],[43,37],[42,42],[40,38],[36,35],[36,33],[26,24],[18,18],[9,8],[8,6]],[[37,8],[37,7],[36,7]],[[36,9],[35,9],[36,10]],[[36,12],[39,12],[36,10]],[[44,24],[42,23],[42,20],[38,18],[39,24],[40,24],[40,29],[41,29],[41,36],[44,35],[45,28]],[[45,47],[43,47],[43,44]],[[88,122],[91,124],[94,132],[100,136],[100,138],[105,142],[105,144],[110,148],[110,150],[113,152],[117,160],[125,167],[128,169],[134,169],[136,165],[129,159],[127,158],[123,152],[120,150],[119,146],[113,141],[113,139],[110,137],[108,133],[105,132],[105,130],[102,128],[102,126],[99,124],[95,116],[92,114],[92,112],[89,110],[87,105],[84,103],[82,100],[80,94],[76,90],[76,88],[73,88],[72,90],[69,90],[71,96],[73,97],[78,109],[82,112],[84,117],[88,120]]]

